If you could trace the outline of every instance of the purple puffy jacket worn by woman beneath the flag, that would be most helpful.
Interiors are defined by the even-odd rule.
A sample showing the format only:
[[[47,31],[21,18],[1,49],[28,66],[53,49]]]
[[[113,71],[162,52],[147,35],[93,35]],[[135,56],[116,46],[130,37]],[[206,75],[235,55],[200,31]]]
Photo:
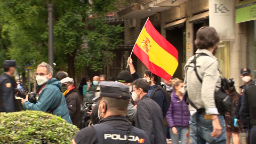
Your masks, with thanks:
[[[172,127],[188,127],[190,121],[190,114],[188,111],[188,105],[185,103],[183,98],[180,101],[178,95],[175,94],[175,91],[171,93],[171,105],[166,114],[166,119],[169,126]]]

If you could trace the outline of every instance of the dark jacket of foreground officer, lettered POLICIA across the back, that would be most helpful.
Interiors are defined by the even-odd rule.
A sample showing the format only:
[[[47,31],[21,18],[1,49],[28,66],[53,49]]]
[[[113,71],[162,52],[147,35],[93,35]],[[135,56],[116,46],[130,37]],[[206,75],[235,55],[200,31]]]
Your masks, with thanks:
[[[100,120],[99,124],[96,124],[98,126],[101,126],[102,124],[107,124],[108,126],[112,127],[113,129],[104,129],[103,134],[109,134],[112,133],[113,135],[121,135],[122,133],[127,133],[129,123],[127,122],[127,119],[124,116],[110,116],[106,117]],[[94,125],[95,126],[95,125]],[[130,135],[135,135],[138,136],[140,135],[139,138],[144,139],[143,143],[149,144],[149,138],[147,134],[138,129],[137,127],[131,127],[131,133]],[[98,141],[98,138],[104,138],[103,135],[97,134],[96,130],[94,129],[93,126],[85,127],[84,129],[80,130],[76,136],[75,136],[75,142],[77,144],[79,143],[100,143]],[[114,137],[116,140],[112,140],[110,137],[106,138],[106,141],[111,141],[111,142],[103,142],[103,143],[124,143],[125,140],[117,140],[117,138],[124,138],[124,135],[121,135],[120,137]],[[132,139],[129,137],[129,139]],[[128,141],[128,143],[140,143],[138,141]]]

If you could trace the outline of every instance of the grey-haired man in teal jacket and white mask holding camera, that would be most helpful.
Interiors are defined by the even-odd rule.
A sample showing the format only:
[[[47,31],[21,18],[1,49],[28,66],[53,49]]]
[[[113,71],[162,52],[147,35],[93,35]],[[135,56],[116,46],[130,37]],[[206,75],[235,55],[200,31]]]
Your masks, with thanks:
[[[26,95],[26,99],[22,99],[21,103],[25,109],[54,114],[72,124],[65,97],[60,90],[61,83],[58,79],[52,78],[52,73],[53,69],[49,64],[40,63],[36,68],[36,82],[39,89],[37,92],[38,101],[31,103],[28,101],[28,95]]]

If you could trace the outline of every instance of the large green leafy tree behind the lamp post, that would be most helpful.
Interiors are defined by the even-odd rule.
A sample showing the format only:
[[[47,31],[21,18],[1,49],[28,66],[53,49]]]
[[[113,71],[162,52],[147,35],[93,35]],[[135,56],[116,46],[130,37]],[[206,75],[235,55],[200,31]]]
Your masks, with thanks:
[[[54,5],[54,59],[55,69],[67,70],[75,77],[75,70],[91,66],[100,70],[113,54],[109,52],[121,42],[121,26],[110,26],[104,15],[114,11],[117,0],[55,0]],[[0,0],[0,19],[10,43],[7,57],[18,65],[47,62],[47,10],[49,1]],[[89,16],[92,16],[89,19]],[[89,27],[90,26],[90,27]],[[1,41],[2,43],[2,41]],[[3,44],[3,43],[2,43]]]

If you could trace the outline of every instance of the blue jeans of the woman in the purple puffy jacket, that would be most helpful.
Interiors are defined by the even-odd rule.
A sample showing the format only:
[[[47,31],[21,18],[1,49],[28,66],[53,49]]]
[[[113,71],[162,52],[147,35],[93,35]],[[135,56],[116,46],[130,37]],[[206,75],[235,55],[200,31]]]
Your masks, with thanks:
[[[174,134],[172,132],[172,129],[169,129],[169,132],[171,134],[171,139],[173,144],[179,144],[179,140],[181,141],[181,144],[186,144],[188,142],[188,138],[186,137],[188,132],[188,127],[175,127],[177,129],[178,134]]]

